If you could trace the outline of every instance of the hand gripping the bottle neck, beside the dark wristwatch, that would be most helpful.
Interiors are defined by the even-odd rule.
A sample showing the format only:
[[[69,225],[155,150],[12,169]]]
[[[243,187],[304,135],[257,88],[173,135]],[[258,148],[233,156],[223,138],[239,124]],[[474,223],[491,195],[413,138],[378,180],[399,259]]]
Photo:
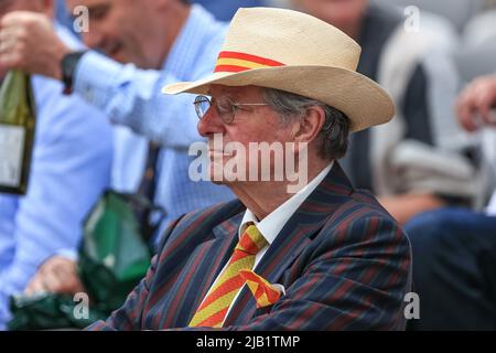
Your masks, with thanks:
[[[62,79],[61,62],[69,52],[44,14],[14,11],[0,22],[0,71],[19,68]]]

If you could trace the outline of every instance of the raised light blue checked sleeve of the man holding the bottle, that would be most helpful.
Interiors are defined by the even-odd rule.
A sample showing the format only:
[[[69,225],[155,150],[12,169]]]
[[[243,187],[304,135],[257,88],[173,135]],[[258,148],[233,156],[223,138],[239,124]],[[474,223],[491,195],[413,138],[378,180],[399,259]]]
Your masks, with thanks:
[[[194,97],[161,93],[165,84],[177,81],[166,72],[122,65],[90,51],[77,65],[74,92],[105,111],[112,122],[128,126],[162,146],[187,150],[191,143],[202,140],[196,130]]]

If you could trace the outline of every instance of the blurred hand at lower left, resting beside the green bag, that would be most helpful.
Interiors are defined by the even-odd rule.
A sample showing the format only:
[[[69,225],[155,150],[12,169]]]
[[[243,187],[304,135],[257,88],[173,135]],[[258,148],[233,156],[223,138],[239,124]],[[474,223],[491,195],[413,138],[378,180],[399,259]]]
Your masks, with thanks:
[[[40,292],[74,295],[85,291],[77,275],[76,261],[53,256],[40,267],[24,292],[33,296]]]

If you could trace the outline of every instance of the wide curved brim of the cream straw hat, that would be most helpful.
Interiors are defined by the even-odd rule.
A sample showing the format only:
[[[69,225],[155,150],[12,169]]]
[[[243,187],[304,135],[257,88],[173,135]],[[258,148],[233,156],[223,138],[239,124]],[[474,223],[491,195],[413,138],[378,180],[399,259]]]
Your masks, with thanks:
[[[278,66],[214,73],[196,82],[166,85],[162,93],[207,95],[211,85],[254,85],[317,99],[346,114],[353,132],[385,124],[395,115],[391,98],[374,81],[354,71],[330,66]]]

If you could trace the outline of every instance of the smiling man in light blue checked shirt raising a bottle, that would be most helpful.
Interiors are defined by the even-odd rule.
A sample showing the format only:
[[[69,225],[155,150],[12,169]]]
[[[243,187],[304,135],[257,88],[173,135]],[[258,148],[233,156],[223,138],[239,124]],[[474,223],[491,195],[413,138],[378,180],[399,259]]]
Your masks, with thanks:
[[[180,0],[68,0],[67,6],[71,12],[76,6],[89,9],[89,31],[82,33],[83,41],[107,55],[96,51],[75,55],[73,72],[64,77],[72,79],[64,81],[73,94],[119,125],[115,132],[114,189],[137,191],[152,140],[161,146],[154,202],[168,212],[163,227],[186,212],[231,199],[225,186],[190,179],[190,164],[196,156],[188,157],[187,150],[201,140],[192,96],[177,99],[160,95],[164,84],[197,79],[212,72],[226,25],[201,6]],[[46,21],[36,14],[12,13],[0,32],[9,36],[17,32],[12,29],[23,28],[26,36],[10,38],[26,49],[19,53],[25,58],[21,60],[22,68],[62,79],[62,58],[72,51],[53,35]],[[20,62],[10,62],[13,47],[8,43],[0,54],[0,68],[20,67]],[[54,257],[40,270],[30,290],[75,290],[62,288],[72,282],[71,278],[53,276],[61,274],[57,267],[67,266],[68,260]]]

